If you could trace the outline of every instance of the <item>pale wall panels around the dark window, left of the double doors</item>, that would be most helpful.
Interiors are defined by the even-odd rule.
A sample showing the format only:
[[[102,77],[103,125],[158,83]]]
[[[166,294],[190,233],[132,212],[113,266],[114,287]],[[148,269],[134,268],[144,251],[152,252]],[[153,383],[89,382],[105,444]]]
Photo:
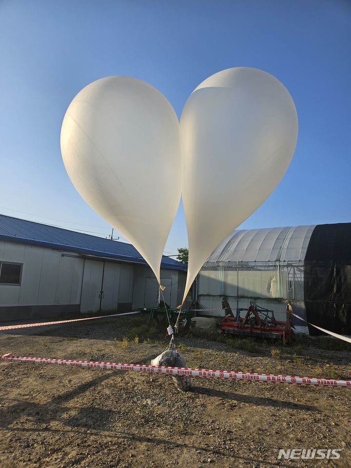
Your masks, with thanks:
[[[81,258],[42,247],[0,242],[0,261],[22,264],[20,285],[0,284],[0,320],[78,312]]]

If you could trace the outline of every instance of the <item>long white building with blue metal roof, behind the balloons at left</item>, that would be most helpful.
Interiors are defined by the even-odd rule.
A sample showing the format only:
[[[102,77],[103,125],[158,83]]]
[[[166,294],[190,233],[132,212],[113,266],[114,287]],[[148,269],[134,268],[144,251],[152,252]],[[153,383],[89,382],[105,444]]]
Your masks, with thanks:
[[[164,256],[165,301],[180,304],[186,265]],[[0,320],[155,306],[158,284],[131,245],[0,215]]]

